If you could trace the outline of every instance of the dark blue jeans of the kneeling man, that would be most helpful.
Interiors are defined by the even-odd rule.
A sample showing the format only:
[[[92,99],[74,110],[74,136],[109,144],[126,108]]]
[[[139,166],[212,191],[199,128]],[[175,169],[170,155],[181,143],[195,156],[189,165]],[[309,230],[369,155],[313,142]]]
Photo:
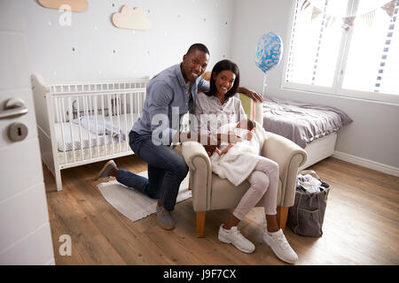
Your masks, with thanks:
[[[184,157],[167,145],[154,145],[151,134],[131,131],[129,145],[137,157],[148,164],[148,179],[121,169],[116,180],[153,199],[160,199],[166,210],[173,210],[180,184],[189,170]]]

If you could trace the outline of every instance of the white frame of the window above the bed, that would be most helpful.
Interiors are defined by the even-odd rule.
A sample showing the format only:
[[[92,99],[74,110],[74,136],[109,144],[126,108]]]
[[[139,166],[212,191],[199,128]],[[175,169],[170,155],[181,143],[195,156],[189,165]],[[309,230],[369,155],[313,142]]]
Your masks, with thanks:
[[[399,103],[399,95],[387,94],[383,92],[373,92],[373,91],[364,91],[364,90],[356,90],[349,88],[342,88],[344,73],[346,70],[347,59],[348,59],[348,51],[350,49],[350,42],[353,34],[353,28],[349,28],[348,32],[345,32],[342,28],[342,35],[340,38],[340,49],[339,55],[335,66],[334,78],[332,80],[332,87],[323,87],[323,86],[314,86],[309,84],[301,84],[295,82],[286,81],[286,72],[288,68],[288,58],[289,58],[289,50],[291,48],[291,36],[293,35],[293,20],[295,17],[295,9],[297,6],[297,0],[292,1],[291,11],[290,11],[290,19],[288,21],[288,30],[286,32],[287,38],[287,47],[284,51],[284,65],[283,65],[283,73],[281,86],[282,89],[296,90],[296,91],[306,91],[312,93],[320,93],[332,96],[340,96],[340,97],[352,97],[358,99],[372,100],[376,102],[382,103]],[[356,0],[350,0],[348,5],[355,5],[352,9],[356,9]],[[397,14],[396,21],[399,20],[399,13]],[[396,25],[399,26],[399,23],[396,22]],[[395,27],[399,28],[399,27]],[[399,78],[398,78],[399,80]]]

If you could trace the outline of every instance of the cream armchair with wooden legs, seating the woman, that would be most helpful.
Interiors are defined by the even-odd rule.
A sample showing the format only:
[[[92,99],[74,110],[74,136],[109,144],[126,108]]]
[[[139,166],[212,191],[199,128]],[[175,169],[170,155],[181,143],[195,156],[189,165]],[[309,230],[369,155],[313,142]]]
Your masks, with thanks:
[[[262,103],[252,104],[252,101],[243,95],[240,96],[240,99],[248,118],[254,119],[262,125]],[[203,237],[206,211],[230,209],[237,206],[248,189],[249,183],[244,181],[235,187],[229,180],[220,179],[215,175],[212,172],[207,152],[199,142],[184,142],[182,154],[190,168],[192,205],[197,213],[197,234],[199,237]],[[294,142],[268,132],[262,148],[262,156],[276,161],[279,166],[277,217],[278,226],[284,230],[288,208],[293,206],[298,167],[306,162],[307,154]],[[262,206],[262,203],[263,198],[257,206]]]

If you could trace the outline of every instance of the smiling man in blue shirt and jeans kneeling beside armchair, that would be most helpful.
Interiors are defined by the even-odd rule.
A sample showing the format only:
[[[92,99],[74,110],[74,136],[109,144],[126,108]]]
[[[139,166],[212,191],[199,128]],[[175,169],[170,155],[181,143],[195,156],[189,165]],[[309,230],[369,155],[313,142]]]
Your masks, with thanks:
[[[201,76],[208,61],[207,47],[193,44],[181,64],[169,67],[149,81],[143,114],[129,134],[130,148],[148,164],[148,179],[118,169],[113,160],[98,173],[98,179],[114,176],[121,184],[158,199],[157,219],[167,230],[175,227],[170,212],[175,208],[180,184],[188,173],[184,157],[171,149],[170,143],[182,141],[181,118],[193,109],[197,93],[209,89],[209,83]],[[239,88],[239,92],[262,101],[262,96],[247,88]],[[198,136],[189,134],[188,137],[200,141]],[[215,149],[216,145],[210,145],[209,136],[206,141],[206,149]]]

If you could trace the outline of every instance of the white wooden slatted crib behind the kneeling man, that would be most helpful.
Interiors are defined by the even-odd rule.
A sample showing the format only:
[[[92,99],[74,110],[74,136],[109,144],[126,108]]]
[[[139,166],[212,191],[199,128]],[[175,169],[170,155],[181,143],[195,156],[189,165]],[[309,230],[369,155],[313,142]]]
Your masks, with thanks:
[[[61,170],[133,154],[129,132],[148,80],[47,85],[31,76],[43,163],[62,190]]]

